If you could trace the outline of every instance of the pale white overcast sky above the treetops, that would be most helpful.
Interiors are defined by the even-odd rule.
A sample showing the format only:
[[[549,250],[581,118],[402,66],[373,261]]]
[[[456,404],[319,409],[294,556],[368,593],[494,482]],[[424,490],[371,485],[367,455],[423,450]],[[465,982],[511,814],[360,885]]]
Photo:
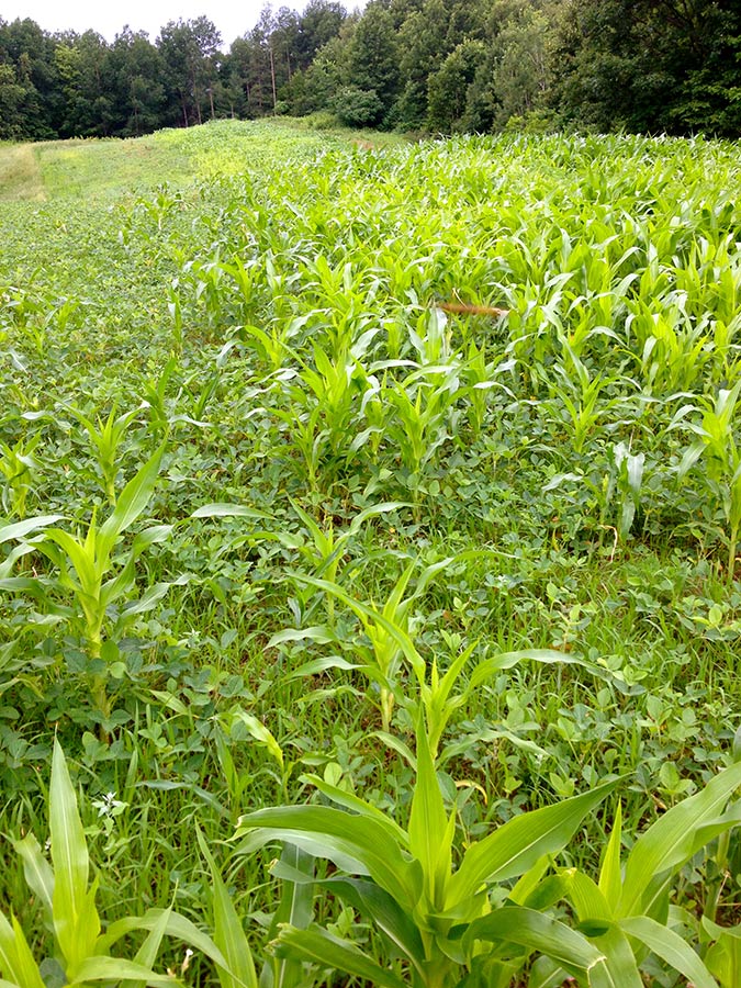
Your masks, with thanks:
[[[290,7],[303,10],[306,0],[277,0],[273,10]],[[344,4],[351,10],[362,7],[359,0]],[[155,41],[159,29],[168,21],[192,20],[205,14],[222,33],[224,49],[228,49],[235,37],[250,31],[257,24],[263,0],[126,0],[126,3],[93,2],[93,0],[0,0],[0,18],[14,21],[15,18],[31,18],[44,31],[72,30],[82,33],[88,29],[97,31],[112,42],[124,24],[133,31],[146,31],[149,41]]]

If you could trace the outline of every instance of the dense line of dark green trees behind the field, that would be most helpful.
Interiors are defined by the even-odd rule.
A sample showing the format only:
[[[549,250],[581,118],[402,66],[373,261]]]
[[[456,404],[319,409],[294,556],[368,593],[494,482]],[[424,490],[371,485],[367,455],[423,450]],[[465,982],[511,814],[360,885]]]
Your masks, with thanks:
[[[420,133],[506,126],[741,136],[738,0],[308,0],[227,52],[200,16],[151,42],[0,18],[0,139],[138,136],[327,111]]]

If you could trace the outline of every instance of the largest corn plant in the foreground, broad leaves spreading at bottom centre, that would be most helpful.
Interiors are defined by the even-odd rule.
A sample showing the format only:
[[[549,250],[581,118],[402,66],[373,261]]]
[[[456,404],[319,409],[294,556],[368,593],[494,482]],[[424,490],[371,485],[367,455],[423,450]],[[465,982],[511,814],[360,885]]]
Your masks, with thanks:
[[[341,808],[274,807],[240,819],[236,837],[242,839],[242,852],[285,841],[345,873],[315,884],[377,928],[391,963],[383,966],[351,941],[316,925],[283,927],[276,943],[278,957],[311,961],[384,988],[452,988],[470,984],[464,980],[467,972],[482,970],[491,988],[505,988],[532,953],[543,953],[581,985],[610,985],[602,951],[583,934],[530,908],[518,886],[509,889],[505,883],[520,878],[520,888],[527,887],[528,873],[538,869],[543,855],[569,844],[584,817],[615,784],[510,820],[470,844],[453,868],[457,809],[445,805],[422,722],[416,764],[406,827],[326,784],[322,791]],[[293,871],[288,874],[297,877]],[[493,903],[495,888],[502,890],[498,900],[508,889],[506,905]],[[490,943],[496,947],[487,947]]]

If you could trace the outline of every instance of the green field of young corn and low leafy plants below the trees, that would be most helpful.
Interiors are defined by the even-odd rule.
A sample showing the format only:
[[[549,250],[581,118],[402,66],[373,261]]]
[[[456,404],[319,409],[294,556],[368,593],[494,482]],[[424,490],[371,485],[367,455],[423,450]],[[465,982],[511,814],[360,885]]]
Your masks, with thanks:
[[[0,238],[3,984],[738,988],[738,147],[2,145]]]

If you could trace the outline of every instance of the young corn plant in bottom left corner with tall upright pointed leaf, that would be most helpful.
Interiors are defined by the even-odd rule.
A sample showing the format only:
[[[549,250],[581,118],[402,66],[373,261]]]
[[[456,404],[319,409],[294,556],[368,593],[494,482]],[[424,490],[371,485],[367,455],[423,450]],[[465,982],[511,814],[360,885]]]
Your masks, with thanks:
[[[191,954],[204,954],[216,968],[221,988],[258,988],[249,946],[207,849],[213,939],[172,909],[150,909],[144,916],[124,917],[104,929],[96,906],[98,879],[90,882],[85,829],[57,741],[48,810],[50,863],[33,833],[16,841],[14,847],[23,862],[29,889],[41,905],[47,931],[42,942],[50,940],[50,951],[37,961],[18,919],[12,914],[8,919],[0,912],[0,984],[5,988],[46,988],[49,984],[87,988],[100,983],[122,988],[181,985],[172,972],[155,970],[167,936],[186,944]],[[133,957],[112,954],[116,944],[124,938],[131,942],[133,934],[146,934]]]

